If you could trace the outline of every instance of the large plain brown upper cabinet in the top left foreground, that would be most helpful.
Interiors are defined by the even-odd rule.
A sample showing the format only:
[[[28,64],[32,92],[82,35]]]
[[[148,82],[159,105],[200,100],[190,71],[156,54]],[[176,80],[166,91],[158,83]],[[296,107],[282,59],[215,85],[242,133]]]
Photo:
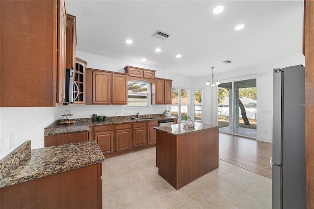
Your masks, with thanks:
[[[66,28],[66,22],[58,24],[64,1],[1,0],[0,4],[0,106],[55,106],[61,55],[57,40],[62,40]],[[62,59],[58,60],[61,65]]]

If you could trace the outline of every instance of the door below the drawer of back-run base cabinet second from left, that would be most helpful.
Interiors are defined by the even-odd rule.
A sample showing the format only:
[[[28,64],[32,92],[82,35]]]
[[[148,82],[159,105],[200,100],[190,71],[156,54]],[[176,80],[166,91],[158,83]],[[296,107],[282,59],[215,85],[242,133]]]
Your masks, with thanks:
[[[132,148],[132,130],[116,130],[115,131],[115,151],[129,150]]]

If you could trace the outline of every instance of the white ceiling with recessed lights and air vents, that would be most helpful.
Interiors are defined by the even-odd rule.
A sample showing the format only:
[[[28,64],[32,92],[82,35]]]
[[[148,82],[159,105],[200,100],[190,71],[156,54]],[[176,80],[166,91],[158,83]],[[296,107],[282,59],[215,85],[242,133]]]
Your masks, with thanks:
[[[225,10],[213,14],[219,4]],[[216,75],[302,52],[303,0],[65,0],[65,5],[77,18],[78,51],[175,75],[207,77],[210,67]],[[235,31],[240,23],[246,27]],[[172,36],[159,40],[152,37],[156,30]],[[157,47],[162,51],[155,52]],[[233,62],[222,63],[227,59]]]

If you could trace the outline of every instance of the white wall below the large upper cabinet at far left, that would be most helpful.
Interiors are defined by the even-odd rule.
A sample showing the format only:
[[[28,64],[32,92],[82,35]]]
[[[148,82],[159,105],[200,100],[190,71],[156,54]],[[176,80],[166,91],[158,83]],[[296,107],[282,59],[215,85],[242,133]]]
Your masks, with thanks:
[[[55,111],[55,107],[1,107],[0,159],[26,140],[31,140],[31,149],[44,147],[44,128],[55,120]]]

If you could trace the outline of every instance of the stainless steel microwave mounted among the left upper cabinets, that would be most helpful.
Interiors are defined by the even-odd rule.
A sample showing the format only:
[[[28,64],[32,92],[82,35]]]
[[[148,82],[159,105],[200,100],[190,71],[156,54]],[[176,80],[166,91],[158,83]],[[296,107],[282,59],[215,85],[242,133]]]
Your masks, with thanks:
[[[78,84],[74,82],[74,70],[65,69],[65,101],[73,103],[78,98]]]

